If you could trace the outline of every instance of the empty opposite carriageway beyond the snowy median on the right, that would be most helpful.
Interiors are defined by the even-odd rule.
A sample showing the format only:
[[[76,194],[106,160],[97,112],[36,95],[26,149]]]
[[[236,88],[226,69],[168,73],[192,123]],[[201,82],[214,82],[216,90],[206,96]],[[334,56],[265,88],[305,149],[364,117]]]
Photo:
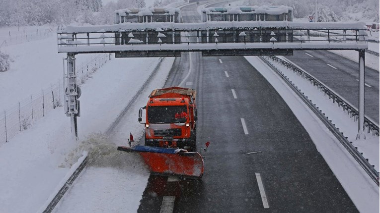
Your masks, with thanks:
[[[295,51],[286,58],[359,108],[358,63],[328,51]],[[379,71],[366,67],[365,114],[378,124],[379,101]]]

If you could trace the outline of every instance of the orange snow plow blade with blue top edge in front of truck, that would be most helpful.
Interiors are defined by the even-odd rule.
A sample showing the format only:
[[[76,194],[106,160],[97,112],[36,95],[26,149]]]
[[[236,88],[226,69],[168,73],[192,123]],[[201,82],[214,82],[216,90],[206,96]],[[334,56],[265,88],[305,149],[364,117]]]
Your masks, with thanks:
[[[203,158],[197,152],[149,146],[120,146],[117,150],[138,152],[152,173],[175,174],[196,178],[203,175]]]

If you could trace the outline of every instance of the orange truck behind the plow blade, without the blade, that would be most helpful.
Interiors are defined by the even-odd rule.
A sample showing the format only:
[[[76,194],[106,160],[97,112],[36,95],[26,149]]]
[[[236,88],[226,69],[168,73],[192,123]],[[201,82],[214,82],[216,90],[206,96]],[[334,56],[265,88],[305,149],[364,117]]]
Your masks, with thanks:
[[[146,109],[145,146],[196,151],[196,91],[190,88],[155,89],[147,106],[139,110],[142,123]]]

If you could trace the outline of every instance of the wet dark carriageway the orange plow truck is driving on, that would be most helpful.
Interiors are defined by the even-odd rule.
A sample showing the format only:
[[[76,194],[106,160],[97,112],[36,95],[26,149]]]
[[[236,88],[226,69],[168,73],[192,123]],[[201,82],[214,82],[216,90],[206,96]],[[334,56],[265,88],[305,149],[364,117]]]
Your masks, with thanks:
[[[199,22],[195,11],[183,7],[184,22]],[[183,53],[165,86],[173,85],[198,91],[197,146],[211,141],[205,173],[151,175],[139,213],[358,212],[293,112],[244,57]]]

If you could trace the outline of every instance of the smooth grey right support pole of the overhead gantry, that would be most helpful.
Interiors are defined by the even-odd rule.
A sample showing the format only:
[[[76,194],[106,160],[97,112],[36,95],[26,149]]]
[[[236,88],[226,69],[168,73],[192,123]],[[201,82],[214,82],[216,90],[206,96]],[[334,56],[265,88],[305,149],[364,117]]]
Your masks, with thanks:
[[[356,139],[366,139],[364,134],[364,65],[365,50],[359,50],[359,125]]]

